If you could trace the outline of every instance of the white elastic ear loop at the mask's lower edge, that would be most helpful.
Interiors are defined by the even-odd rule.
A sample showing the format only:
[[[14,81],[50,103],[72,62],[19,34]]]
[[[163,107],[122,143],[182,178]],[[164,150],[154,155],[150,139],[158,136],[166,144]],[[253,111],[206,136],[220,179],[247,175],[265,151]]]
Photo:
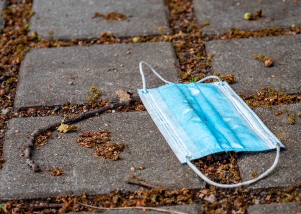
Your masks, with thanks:
[[[209,178],[207,178],[191,161],[190,161],[190,156],[186,157],[186,161],[187,164],[192,168],[192,170],[194,170],[203,180],[205,180],[207,183],[211,184],[211,185],[215,185],[221,188],[234,188],[234,187],[238,187],[238,186],[242,186],[242,185],[249,185],[251,183],[254,183],[258,180],[260,180],[261,178],[265,177],[266,175],[268,175],[277,165],[278,161],[279,161],[279,155],[280,155],[280,144],[276,143],[277,146],[277,155],[276,158],[274,160],[273,165],[267,169],[264,173],[260,174],[258,177],[256,177],[255,179],[252,180],[247,180],[241,183],[236,183],[236,184],[221,184],[221,183],[217,183],[214,182],[212,180],[210,180]]]

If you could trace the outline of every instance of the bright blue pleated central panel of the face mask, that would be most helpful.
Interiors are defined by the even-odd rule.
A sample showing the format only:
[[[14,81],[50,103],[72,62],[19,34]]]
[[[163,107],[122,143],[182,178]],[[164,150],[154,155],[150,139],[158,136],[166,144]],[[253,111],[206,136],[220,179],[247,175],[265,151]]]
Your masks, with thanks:
[[[250,131],[218,87],[222,86],[190,83],[165,85],[157,90],[202,156],[234,149],[248,150],[254,144],[260,146],[260,138]],[[207,146],[206,141],[213,142],[214,146]]]

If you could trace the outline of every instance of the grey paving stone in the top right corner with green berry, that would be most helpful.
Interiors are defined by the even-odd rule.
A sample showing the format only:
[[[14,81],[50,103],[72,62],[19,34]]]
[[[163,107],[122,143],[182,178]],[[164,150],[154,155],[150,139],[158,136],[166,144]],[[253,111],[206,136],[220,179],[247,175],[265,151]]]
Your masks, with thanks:
[[[207,34],[224,33],[230,28],[250,30],[301,24],[301,2],[293,0],[193,0],[193,4],[198,22],[209,21],[210,25],[204,27]],[[261,18],[244,19],[246,12],[255,14],[259,9],[262,9]]]

